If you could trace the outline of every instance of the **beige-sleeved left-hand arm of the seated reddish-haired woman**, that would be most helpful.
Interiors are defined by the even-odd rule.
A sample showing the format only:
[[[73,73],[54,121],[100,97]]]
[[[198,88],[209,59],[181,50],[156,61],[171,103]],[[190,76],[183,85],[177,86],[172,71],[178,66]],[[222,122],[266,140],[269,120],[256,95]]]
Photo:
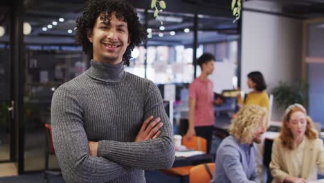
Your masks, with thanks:
[[[284,182],[285,178],[289,177],[289,175],[280,168],[280,164],[282,164],[282,159],[280,159],[281,152],[279,152],[280,146],[280,141],[275,139],[272,145],[271,162],[269,167],[273,179],[276,179],[278,182]]]

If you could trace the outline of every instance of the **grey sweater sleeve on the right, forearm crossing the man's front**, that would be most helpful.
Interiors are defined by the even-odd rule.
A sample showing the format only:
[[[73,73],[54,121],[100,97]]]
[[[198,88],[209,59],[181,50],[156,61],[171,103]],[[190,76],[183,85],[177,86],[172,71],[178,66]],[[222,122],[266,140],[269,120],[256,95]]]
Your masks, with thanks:
[[[156,139],[141,142],[99,141],[98,156],[118,164],[143,170],[170,168],[174,162],[172,125],[165,113],[159,89],[150,82],[144,104],[143,119],[160,117],[161,134]]]

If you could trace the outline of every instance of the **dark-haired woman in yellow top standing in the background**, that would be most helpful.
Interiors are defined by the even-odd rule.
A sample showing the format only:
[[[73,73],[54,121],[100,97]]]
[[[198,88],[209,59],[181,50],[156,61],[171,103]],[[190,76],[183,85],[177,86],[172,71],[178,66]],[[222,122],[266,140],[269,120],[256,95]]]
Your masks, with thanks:
[[[253,71],[247,77],[247,85],[253,91],[246,96],[245,101],[242,100],[240,94],[237,95],[237,103],[240,105],[259,105],[265,107],[269,112],[269,96],[264,91],[267,89],[267,84],[264,81],[262,73],[260,71]]]

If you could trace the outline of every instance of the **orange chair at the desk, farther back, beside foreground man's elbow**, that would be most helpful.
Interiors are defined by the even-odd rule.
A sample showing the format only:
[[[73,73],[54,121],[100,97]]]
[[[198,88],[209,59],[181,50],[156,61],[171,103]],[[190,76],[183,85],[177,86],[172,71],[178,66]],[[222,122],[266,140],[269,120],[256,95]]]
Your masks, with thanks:
[[[206,153],[207,151],[207,140],[203,137],[194,136],[189,141],[186,137],[183,137],[182,145],[186,146],[188,149],[201,150],[204,153]],[[193,166],[179,166],[161,171],[166,175],[170,175],[173,177],[181,177],[181,182],[183,182],[183,178],[189,175],[189,170],[192,167]]]

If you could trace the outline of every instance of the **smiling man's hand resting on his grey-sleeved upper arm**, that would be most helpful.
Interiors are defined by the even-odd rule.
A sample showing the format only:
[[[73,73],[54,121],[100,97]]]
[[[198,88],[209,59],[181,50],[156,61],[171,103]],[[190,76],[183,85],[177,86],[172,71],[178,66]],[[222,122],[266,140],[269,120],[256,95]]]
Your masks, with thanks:
[[[147,141],[159,137],[161,134],[160,128],[163,126],[163,123],[160,122],[160,118],[156,118],[154,121],[152,121],[152,119],[153,116],[150,116],[144,121],[141,130],[138,132],[135,138],[135,142]]]

